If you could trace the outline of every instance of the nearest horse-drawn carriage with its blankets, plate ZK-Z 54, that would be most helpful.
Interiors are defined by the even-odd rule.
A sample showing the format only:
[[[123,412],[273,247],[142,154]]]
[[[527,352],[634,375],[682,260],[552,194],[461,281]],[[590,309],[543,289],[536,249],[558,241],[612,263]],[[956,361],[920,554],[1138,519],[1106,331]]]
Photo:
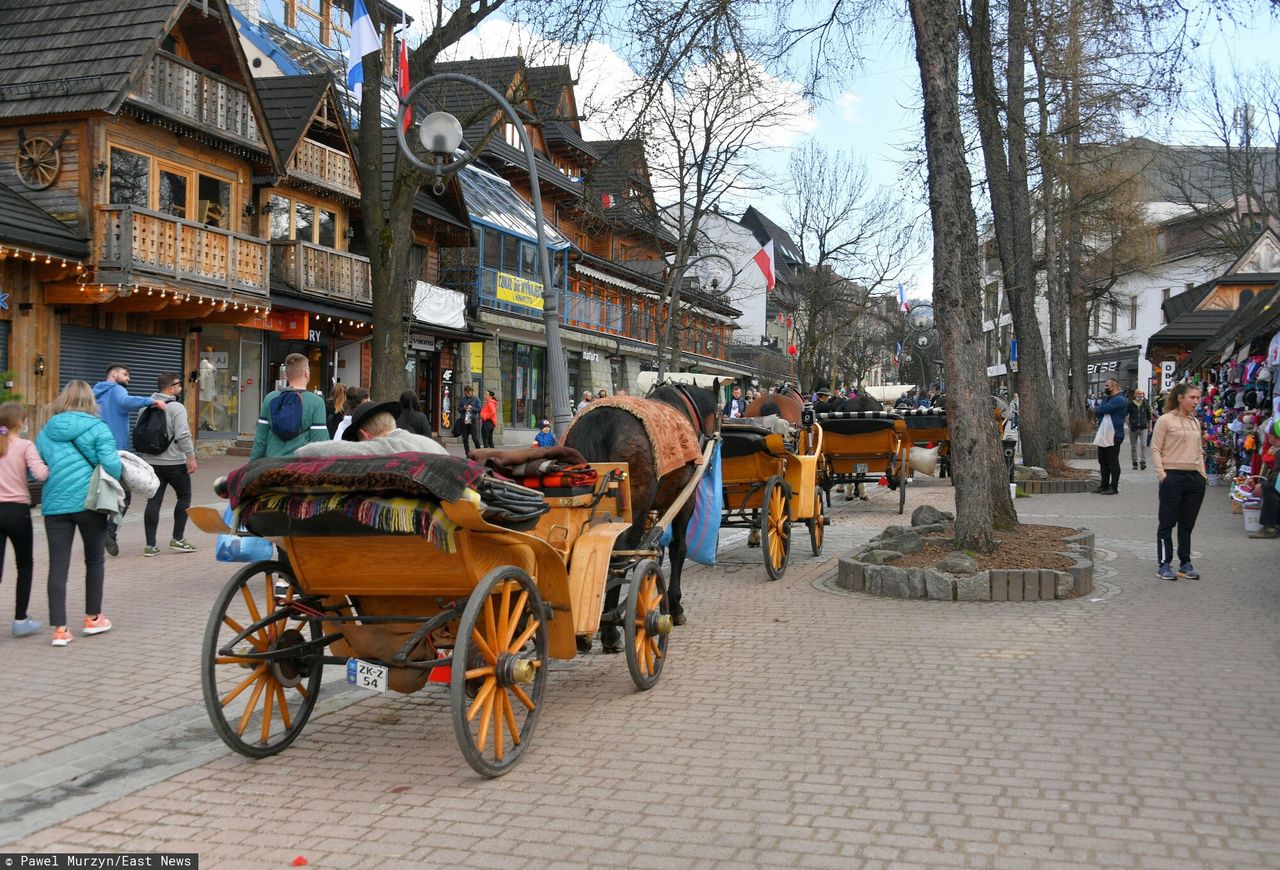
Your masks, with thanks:
[[[497,777],[529,747],[549,660],[572,659],[596,629],[621,629],[632,681],[653,687],[680,606],[657,541],[687,519],[714,441],[678,473],[650,470],[645,481],[643,468],[636,478],[600,461],[538,489],[430,454],[261,459],[233,472],[232,526],[211,508],[192,519],[265,537],[283,558],[241,568],[210,614],[201,673],[216,732],[250,757],[282,751],[337,665],[379,692],[447,683],[463,757]],[[666,496],[636,500],[636,485],[659,482],[672,485]]]

